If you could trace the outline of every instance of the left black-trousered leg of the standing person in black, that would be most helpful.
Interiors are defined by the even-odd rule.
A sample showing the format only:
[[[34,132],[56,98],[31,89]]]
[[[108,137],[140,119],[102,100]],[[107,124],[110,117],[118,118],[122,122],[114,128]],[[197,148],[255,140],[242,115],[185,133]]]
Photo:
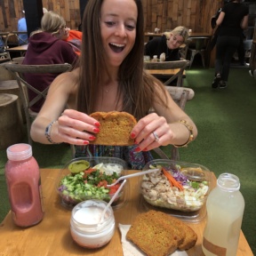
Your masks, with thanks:
[[[216,57],[215,57],[215,78],[212,81],[212,88],[217,88],[221,80],[222,62],[225,53],[225,45],[223,44],[223,36],[218,36],[216,42]]]

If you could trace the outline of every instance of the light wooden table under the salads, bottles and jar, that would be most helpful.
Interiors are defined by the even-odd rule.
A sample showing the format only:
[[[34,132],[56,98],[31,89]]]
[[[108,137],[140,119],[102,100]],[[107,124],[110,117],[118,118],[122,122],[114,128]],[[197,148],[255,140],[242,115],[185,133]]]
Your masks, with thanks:
[[[60,198],[55,190],[58,174],[59,170],[57,169],[41,170],[45,209],[44,220],[41,223],[31,228],[18,228],[12,223],[11,212],[6,215],[0,227],[0,255],[123,255],[120,232],[117,225],[112,240],[100,249],[87,250],[76,245],[70,235],[69,229],[71,212],[60,204]],[[213,173],[212,178],[216,183]],[[129,184],[130,194],[127,203],[120,209],[114,211],[116,224],[131,224],[134,217],[140,213],[140,207],[138,207],[140,197],[138,193],[138,178],[134,177],[130,179]],[[195,247],[188,251],[188,255],[204,255],[201,244],[205,220],[199,223],[188,223],[188,225],[196,231],[198,236]],[[241,231],[236,256],[244,255],[251,256],[253,254]]]

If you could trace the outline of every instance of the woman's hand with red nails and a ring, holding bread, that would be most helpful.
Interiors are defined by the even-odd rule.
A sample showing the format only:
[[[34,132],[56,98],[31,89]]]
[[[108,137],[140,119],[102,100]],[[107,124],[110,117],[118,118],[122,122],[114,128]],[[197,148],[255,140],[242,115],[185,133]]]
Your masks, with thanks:
[[[170,144],[173,132],[163,116],[151,113],[133,127],[131,138],[138,144],[135,151],[148,151]]]

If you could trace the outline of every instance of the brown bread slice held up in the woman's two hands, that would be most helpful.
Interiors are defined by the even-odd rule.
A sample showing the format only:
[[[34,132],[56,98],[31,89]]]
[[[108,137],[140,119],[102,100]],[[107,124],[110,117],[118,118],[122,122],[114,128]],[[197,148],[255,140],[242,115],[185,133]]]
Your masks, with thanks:
[[[100,122],[100,132],[91,144],[106,146],[131,146],[132,128],[137,121],[134,116],[127,112],[94,112],[90,116]],[[94,134],[93,134],[94,135]]]

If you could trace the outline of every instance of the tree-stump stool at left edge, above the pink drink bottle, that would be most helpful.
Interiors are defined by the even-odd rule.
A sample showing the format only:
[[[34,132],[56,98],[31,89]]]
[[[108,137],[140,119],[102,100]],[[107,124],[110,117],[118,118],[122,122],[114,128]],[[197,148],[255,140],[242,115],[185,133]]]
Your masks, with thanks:
[[[0,149],[20,143],[24,136],[18,96],[0,93]]]

